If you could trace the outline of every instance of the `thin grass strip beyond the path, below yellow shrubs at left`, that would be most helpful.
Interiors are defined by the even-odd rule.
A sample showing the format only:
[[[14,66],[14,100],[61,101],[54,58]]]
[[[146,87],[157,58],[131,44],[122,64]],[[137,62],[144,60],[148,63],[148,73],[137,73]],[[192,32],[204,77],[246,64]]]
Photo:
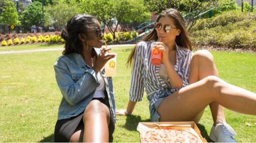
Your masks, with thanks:
[[[20,50],[35,50],[64,47],[64,44],[21,44],[14,46],[0,46],[1,51],[20,51]]]

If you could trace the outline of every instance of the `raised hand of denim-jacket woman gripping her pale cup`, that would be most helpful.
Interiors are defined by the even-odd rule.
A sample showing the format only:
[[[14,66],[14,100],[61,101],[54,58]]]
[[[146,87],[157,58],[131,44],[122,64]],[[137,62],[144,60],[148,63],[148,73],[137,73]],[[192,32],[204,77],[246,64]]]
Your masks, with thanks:
[[[108,60],[115,57],[115,54],[107,53],[109,50],[111,50],[111,49],[103,48],[102,51],[100,51],[100,53],[94,63],[94,66],[92,67],[92,69],[94,69],[96,73],[98,73],[98,71],[104,67],[104,65],[106,64],[106,62]]]

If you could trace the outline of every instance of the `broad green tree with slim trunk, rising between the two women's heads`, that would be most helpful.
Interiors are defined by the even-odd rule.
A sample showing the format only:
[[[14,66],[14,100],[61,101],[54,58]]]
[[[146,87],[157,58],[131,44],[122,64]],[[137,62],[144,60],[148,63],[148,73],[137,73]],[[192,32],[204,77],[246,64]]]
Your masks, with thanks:
[[[150,13],[144,7],[142,0],[85,0],[80,7],[84,13],[96,15],[104,23],[115,39],[115,31],[120,23],[149,20]],[[117,23],[112,27],[113,20]]]

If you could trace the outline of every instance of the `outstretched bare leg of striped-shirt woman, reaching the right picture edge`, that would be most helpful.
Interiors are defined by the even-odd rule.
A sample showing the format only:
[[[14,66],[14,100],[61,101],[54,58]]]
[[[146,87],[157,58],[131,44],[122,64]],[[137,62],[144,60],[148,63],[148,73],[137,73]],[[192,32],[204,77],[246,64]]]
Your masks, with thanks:
[[[212,102],[235,112],[256,115],[255,93],[208,76],[166,97],[158,107],[160,121],[191,121]]]

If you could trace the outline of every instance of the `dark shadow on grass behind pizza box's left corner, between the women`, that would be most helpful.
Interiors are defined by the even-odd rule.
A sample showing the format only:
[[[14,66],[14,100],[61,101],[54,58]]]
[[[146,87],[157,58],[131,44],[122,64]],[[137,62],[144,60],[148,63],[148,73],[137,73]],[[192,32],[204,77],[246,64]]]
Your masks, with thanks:
[[[129,115],[126,117],[126,124],[122,127],[129,131],[136,131],[139,122],[150,122],[150,119],[141,120],[141,116]]]

